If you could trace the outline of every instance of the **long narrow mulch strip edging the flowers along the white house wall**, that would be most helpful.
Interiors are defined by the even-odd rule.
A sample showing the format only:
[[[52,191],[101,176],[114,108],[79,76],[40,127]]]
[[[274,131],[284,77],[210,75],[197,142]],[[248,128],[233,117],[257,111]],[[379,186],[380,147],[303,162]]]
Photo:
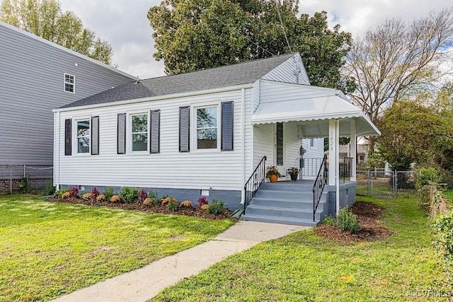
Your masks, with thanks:
[[[110,207],[115,209],[128,209],[128,210],[137,210],[137,211],[148,211],[157,214],[173,214],[173,215],[186,215],[186,216],[194,216],[199,218],[205,219],[225,219],[230,218],[232,211],[226,209],[224,214],[214,215],[208,214],[205,210],[200,209],[200,207],[192,207],[190,209],[183,209],[179,208],[178,211],[171,211],[168,209],[166,205],[144,205],[141,202],[137,202],[134,204],[125,204],[120,202],[93,202],[91,200],[85,200],[81,198],[74,198],[70,197],[67,199],[59,199],[59,198],[49,198],[47,199],[49,202],[61,202],[61,203],[69,203],[69,204],[86,204],[88,206],[95,206],[95,207]]]

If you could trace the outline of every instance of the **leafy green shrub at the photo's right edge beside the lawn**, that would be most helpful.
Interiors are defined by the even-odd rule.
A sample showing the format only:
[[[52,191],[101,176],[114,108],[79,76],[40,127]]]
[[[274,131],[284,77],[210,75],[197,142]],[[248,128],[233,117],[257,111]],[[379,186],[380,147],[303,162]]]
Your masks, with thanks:
[[[453,261],[453,212],[437,216],[432,221],[432,229],[435,235],[435,248],[445,258]]]

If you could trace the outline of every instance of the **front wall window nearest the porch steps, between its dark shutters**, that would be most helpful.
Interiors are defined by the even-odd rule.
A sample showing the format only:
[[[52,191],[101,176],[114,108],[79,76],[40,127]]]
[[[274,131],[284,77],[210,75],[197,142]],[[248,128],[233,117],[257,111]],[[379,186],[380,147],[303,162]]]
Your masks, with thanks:
[[[218,149],[219,125],[217,124],[218,106],[196,108],[196,148]]]

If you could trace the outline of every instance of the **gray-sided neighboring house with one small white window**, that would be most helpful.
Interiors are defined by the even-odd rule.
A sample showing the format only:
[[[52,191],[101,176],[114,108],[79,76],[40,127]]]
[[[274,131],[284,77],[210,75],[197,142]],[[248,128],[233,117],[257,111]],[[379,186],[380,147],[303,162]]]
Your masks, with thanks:
[[[1,180],[10,176],[5,165],[52,165],[53,108],[133,80],[0,22],[0,192],[5,189]]]

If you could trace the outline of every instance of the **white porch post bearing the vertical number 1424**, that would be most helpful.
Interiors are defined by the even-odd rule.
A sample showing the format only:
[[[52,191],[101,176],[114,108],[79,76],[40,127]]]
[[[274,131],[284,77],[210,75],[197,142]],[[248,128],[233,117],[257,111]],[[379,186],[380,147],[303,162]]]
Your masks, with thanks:
[[[328,184],[335,185],[336,190],[336,213],[340,210],[340,175],[338,163],[340,162],[340,122],[338,120],[328,121]]]

